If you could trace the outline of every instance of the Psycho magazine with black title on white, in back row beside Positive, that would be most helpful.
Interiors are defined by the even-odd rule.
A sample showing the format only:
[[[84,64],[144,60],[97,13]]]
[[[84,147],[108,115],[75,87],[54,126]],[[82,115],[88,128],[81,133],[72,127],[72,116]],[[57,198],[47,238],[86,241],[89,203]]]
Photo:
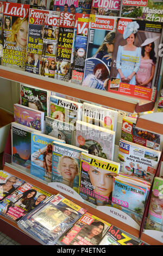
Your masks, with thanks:
[[[50,98],[51,118],[68,124],[76,125],[76,121],[82,119],[82,107],[82,103],[62,97],[51,96]]]

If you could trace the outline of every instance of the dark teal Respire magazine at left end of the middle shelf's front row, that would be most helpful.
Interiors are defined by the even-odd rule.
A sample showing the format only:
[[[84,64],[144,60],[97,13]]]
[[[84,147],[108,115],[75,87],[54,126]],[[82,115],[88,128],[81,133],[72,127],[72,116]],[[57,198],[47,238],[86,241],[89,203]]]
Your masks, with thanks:
[[[24,169],[30,169],[31,133],[35,130],[16,122],[11,123],[11,155],[12,162]],[[39,132],[39,131],[38,131]],[[40,131],[41,133],[41,131]]]

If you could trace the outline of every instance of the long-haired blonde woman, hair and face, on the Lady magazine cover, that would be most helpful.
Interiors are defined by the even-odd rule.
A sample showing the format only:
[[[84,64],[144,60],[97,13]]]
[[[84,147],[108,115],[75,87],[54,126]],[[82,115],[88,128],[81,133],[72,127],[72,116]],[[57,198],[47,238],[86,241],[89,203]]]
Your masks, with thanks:
[[[11,27],[11,34],[6,41],[9,43],[7,45],[19,46],[18,50],[22,52],[27,51],[27,35],[28,35],[28,19],[21,19],[20,17],[14,22]],[[4,44],[5,45],[5,44]],[[6,46],[7,46],[6,45]]]

